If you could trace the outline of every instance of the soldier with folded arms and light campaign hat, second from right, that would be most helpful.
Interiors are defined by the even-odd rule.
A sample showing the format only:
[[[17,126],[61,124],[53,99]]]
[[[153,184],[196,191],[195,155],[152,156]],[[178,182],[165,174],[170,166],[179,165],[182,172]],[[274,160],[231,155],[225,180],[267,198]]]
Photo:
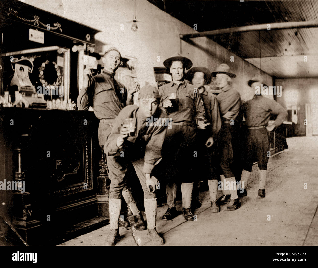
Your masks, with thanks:
[[[233,154],[235,153],[233,147],[235,147],[234,143],[236,142],[234,125],[235,119],[239,114],[241,98],[239,92],[230,85],[232,78],[235,78],[236,75],[230,71],[229,65],[220,64],[217,70],[211,74],[216,77],[216,85],[222,91],[217,96],[222,118],[222,127],[218,134],[218,146],[220,148],[220,168],[222,175],[224,175],[226,185],[228,182],[231,184],[231,200],[227,205],[227,210],[236,210],[241,206],[241,203],[239,202],[236,180],[233,173]],[[224,184],[223,189],[225,189]]]

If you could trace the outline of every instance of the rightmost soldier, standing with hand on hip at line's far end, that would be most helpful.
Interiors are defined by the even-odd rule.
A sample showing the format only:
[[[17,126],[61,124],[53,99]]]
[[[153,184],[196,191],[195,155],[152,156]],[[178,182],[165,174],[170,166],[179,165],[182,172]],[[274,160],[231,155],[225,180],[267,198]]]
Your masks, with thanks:
[[[241,181],[245,182],[245,185],[247,184],[256,156],[259,167],[259,191],[257,198],[264,198],[268,162],[267,154],[269,151],[267,132],[272,131],[275,127],[279,127],[286,119],[287,112],[278,102],[260,94],[259,89],[262,86],[266,86],[260,75],[254,76],[247,84],[256,90],[253,99],[245,102],[242,106],[248,135],[246,137],[245,166],[242,171]],[[276,114],[277,117],[272,125],[267,126],[271,114]]]

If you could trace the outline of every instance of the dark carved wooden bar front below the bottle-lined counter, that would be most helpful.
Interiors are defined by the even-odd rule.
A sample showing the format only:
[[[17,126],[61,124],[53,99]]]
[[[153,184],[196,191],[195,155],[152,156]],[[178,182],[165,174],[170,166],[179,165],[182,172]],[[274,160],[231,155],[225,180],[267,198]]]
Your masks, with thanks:
[[[7,182],[25,182],[23,192],[1,191],[2,215],[11,216],[28,244],[97,216],[100,148],[93,112],[4,107],[0,128],[1,174]]]

